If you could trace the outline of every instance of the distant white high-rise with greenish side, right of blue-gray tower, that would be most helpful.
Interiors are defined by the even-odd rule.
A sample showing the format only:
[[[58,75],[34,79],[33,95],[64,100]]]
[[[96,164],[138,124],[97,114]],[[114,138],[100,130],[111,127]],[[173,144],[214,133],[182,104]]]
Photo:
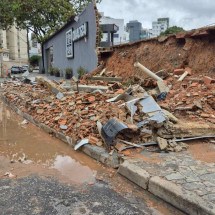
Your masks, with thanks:
[[[150,37],[158,37],[162,32],[169,28],[169,18],[158,18],[157,21],[152,22],[152,29],[150,30]]]

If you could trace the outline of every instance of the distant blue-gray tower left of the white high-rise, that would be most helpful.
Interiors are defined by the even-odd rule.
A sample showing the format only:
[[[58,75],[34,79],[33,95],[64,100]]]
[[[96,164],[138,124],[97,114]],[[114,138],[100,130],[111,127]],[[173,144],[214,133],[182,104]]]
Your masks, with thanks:
[[[126,25],[126,29],[129,33],[129,41],[137,41],[141,39],[142,23],[137,20],[130,21]]]

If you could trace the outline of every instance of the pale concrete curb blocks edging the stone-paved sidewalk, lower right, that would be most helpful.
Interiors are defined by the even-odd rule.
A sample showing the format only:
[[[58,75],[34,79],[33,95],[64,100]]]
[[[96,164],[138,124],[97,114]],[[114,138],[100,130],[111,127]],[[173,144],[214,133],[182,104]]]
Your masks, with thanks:
[[[125,161],[119,166],[118,172],[187,214],[215,215],[215,207],[195,193],[184,190],[181,186],[159,176],[151,176],[147,171],[136,166],[135,163]]]

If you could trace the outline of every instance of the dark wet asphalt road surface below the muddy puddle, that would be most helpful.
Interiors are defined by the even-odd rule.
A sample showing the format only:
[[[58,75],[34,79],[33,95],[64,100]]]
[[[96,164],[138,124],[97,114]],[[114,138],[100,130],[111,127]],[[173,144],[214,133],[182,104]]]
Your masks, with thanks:
[[[126,199],[107,184],[68,186],[30,176],[0,181],[1,215],[153,214],[143,202]]]

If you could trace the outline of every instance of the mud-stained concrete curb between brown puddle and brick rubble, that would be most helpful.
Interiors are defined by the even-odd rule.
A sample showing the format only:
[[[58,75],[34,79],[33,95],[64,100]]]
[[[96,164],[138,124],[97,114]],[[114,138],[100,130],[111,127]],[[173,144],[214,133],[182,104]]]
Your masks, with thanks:
[[[23,113],[15,105],[11,104],[5,96],[2,96],[2,100],[18,115],[22,116],[23,118],[25,118],[29,122],[33,123],[37,127],[43,129],[46,133],[54,135],[56,138],[69,144],[72,148],[74,148],[75,142],[72,140],[71,137],[66,136],[61,132],[57,132],[56,130],[48,127],[47,125],[38,122],[29,114]],[[118,157],[117,153],[114,153],[113,155],[109,155],[109,153],[104,148],[101,148],[98,146],[92,146],[90,144],[83,146],[81,148],[81,151],[84,152],[86,155],[90,156],[91,158],[93,158],[109,167],[112,167],[112,168],[119,167],[120,158]]]

